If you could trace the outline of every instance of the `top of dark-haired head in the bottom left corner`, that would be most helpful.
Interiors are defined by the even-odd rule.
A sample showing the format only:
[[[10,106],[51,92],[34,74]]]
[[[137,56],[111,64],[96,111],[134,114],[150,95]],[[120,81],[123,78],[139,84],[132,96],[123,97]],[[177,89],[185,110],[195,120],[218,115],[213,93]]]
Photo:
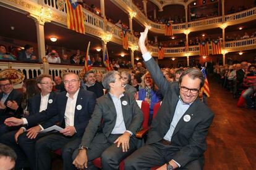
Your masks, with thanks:
[[[17,156],[10,147],[0,144],[0,164],[3,170],[11,170],[14,169],[15,160]]]

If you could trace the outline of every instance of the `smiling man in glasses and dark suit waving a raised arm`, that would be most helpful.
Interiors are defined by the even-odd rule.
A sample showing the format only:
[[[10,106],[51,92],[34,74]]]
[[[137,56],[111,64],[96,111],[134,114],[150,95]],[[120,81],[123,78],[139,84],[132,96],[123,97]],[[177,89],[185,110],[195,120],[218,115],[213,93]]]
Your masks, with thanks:
[[[145,47],[147,33],[148,26],[140,36],[140,51],[164,99],[151,124],[147,144],[125,160],[125,169],[202,169],[205,138],[213,120],[213,113],[198,99],[203,75],[190,68],[182,73],[179,83],[168,83]]]

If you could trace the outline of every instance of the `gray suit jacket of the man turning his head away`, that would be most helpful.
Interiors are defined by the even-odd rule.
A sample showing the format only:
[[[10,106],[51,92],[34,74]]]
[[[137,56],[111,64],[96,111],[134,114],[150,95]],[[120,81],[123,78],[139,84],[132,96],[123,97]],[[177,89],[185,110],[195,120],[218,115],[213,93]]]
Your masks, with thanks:
[[[122,105],[122,115],[124,116],[124,124],[126,130],[136,134],[140,130],[143,121],[143,113],[140,110],[134,97],[125,93],[121,97],[121,102],[126,100],[127,105]],[[116,124],[116,108],[109,94],[105,94],[97,99],[92,119],[83,134],[81,145],[90,148],[92,140],[100,144],[108,142],[108,137]],[[98,131],[98,127],[102,126],[102,131]],[[98,132],[97,132],[98,131]],[[96,134],[96,136],[95,136]]]

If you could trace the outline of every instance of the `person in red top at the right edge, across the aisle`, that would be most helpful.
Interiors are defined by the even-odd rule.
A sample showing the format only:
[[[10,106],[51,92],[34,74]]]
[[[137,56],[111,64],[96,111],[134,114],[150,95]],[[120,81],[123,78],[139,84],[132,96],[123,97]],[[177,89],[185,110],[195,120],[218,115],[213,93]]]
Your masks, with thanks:
[[[252,101],[250,96],[256,91],[256,66],[250,65],[248,70],[249,71],[247,71],[244,75],[244,86],[247,86],[248,89],[245,90],[245,92],[242,94],[242,97],[245,99],[247,108],[254,108],[255,103]]]

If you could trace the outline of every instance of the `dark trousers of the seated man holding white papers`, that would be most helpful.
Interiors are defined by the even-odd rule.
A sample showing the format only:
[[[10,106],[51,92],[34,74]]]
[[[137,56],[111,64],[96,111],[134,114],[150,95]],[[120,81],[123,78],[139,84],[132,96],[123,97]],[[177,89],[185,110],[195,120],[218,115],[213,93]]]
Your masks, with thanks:
[[[72,152],[78,148],[80,139],[77,136],[67,137],[62,134],[50,134],[41,137],[35,144],[36,169],[51,169],[51,151],[62,149],[64,169],[74,169],[72,165]]]

